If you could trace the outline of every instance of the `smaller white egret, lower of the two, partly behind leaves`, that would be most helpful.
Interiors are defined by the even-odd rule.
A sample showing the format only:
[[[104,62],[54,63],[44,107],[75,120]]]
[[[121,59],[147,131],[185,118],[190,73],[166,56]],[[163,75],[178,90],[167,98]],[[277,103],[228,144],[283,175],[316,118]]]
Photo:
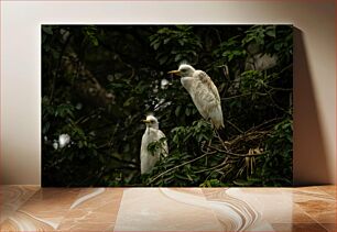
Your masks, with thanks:
[[[166,137],[165,134],[159,130],[157,119],[153,115],[148,115],[143,122],[146,124],[145,132],[142,137],[140,161],[141,161],[141,174],[148,174],[152,170],[155,163],[160,159],[162,154],[164,157],[168,154],[167,142],[162,143],[162,147],[153,153],[148,150],[150,143],[160,141],[162,137]]]

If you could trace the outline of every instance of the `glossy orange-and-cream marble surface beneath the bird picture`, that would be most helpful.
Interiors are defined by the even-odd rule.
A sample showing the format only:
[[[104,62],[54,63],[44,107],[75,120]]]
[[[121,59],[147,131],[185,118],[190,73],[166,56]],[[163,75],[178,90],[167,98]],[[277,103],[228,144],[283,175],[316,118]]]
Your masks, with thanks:
[[[337,231],[336,186],[0,186],[0,231]]]

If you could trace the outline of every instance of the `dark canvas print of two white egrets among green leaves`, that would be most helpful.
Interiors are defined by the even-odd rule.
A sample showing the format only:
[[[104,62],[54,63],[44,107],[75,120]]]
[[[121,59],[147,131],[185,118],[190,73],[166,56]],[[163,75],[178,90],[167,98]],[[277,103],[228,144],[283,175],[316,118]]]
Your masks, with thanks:
[[[292,25],[41,25],[42,186],[292,186]]]

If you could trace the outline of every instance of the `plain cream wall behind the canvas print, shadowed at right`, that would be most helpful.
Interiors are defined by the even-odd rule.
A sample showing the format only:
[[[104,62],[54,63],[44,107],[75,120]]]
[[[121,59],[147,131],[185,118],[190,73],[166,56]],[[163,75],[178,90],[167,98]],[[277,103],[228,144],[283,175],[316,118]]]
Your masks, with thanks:
[[[336,183],[334,1],[1,1],[1,178],[40,184],[41,23],[291,23],[296,184]]]

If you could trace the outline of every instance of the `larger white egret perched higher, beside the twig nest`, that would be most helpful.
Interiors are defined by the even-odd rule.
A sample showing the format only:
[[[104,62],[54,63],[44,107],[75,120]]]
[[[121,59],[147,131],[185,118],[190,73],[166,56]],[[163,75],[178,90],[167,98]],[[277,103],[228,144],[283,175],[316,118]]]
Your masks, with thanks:
[[[216,129],[224,128],[221,101],[217,87],[203,70],[183,64],[177,70],[168,74],[181,76],[181,82],[188,91],[192,100],[204,119],[210,120]]]

